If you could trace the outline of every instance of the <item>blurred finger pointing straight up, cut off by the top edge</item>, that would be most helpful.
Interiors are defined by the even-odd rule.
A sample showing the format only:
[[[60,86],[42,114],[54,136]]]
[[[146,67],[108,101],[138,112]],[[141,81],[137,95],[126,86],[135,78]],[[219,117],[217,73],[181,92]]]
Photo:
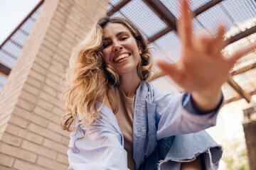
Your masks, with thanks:
[[[193,14],[189,8],[187,0],[180,0],[179,4],[181,6],[180,13],[181,17],[177,21],[178,35],[181,38],[181,42],[184,46],[191,45],[191,35],[192,35],[192,19]]]

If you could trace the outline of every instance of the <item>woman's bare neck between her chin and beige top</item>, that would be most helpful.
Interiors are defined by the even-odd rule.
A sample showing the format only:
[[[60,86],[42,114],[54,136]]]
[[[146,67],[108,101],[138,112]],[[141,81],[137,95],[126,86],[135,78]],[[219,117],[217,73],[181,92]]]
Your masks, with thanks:
[[[129,77],[120,77],[120,88],[124,91],[125,96],[132,98],[136,94],[136,90],[141,82],[137,76],[130,75]]]

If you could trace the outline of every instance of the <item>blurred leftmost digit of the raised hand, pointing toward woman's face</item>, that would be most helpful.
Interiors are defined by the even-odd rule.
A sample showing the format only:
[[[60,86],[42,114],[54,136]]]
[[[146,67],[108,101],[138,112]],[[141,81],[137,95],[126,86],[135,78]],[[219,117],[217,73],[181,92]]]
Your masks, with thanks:
[[[164,75],[169,75],[177,83],[181,80],[181,72],[178,71],[175,64],[164,61],[157,61],[156,65],[161,69]]]

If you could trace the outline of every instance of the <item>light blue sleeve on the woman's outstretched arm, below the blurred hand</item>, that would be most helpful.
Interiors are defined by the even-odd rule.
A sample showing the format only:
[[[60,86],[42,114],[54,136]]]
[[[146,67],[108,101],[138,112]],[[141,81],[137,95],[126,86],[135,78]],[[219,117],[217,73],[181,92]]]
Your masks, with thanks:
[[[156,103],[156,138],[160,140],[171,135],[183,135],[210,128],[216,124],[218,111],[223,99],[213,111],[201,113],[193,105],[190,94],[155,91]]]

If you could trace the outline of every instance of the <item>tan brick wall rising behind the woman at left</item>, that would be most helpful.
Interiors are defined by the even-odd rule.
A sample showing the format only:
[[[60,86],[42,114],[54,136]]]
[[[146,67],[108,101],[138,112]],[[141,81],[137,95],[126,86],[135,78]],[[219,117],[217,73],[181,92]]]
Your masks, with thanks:
[[[45,0],[0,96],[0,169],[67,169],[61,79],[107,0]]]

